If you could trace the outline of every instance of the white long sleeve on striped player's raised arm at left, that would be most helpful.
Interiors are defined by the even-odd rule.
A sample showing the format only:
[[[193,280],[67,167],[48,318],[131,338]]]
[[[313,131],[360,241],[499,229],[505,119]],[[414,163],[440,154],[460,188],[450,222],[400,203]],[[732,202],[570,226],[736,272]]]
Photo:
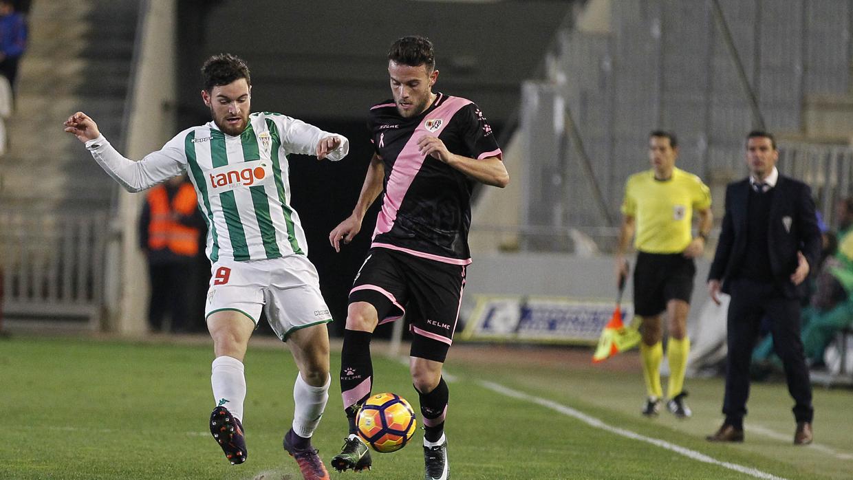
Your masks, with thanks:
[[[139,192],[180,175],[186,169],[186,154],[173,143],[166,143],[160,150],[148,153],[138,161],[125,158],[103,135],[86,142],[86,149],[98,165],[125,190]]]

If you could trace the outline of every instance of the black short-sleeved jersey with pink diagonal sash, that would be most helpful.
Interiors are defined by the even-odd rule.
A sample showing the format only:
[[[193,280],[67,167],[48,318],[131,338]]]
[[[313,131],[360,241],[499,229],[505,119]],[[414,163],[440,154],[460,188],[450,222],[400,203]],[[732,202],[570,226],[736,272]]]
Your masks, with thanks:
[[[393,100],[370,108],[368,126],[385,164],[385,193],[376,218],[373,246],[444,263],[471,263],[472,178],[418,152],[421,136],[432,135],[451,153],[472,159],[502,158],[488,121],[473,101],[438,93],[424,113],[411,119]]]

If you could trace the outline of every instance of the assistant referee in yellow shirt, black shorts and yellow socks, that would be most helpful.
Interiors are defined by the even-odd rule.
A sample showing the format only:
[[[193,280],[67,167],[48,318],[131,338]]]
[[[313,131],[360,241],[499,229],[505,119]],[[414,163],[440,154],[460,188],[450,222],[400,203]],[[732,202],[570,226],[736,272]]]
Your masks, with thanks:
[[[624,255],[634,238],[634,315],[641,320],[640,354],[648,394],[642,413],[656,416],[664,397],[659,370],[664,356],[661,314],[665,310],[670,333],[666,349],[670,400],[666,406],[676,417],[687,418],[691,412],[684,402],[687,391],[683,385],[690,351],[687,319],[696,275],[693,258],[705,250],[711,231],[711,190],[699,176],[676,168],[674,134],[653,131],[648,157],[652,169],[635,173],[625,183],[616,271],[618,276],[627,275]],[[693,212],[699,218],[696,237],[691,233]]]

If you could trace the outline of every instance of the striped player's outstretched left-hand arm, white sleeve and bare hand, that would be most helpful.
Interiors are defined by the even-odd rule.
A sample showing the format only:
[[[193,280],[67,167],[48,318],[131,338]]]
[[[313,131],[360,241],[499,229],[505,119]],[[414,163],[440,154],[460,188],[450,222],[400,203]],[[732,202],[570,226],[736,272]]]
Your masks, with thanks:
[[[74,113],[64,126],[65,131],[83,142],[98,165],[128,192],[139,192],[179,175],[186,165],[186,156],[178,145],[181,142],[176,142],[176,139],[135,162],[113,148],[101,135],[95,120],[85,113]]]

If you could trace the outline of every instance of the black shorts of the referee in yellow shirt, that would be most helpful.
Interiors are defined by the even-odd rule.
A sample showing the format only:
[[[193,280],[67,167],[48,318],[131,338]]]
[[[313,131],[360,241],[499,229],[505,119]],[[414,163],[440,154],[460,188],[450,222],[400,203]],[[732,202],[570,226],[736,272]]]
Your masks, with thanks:
[[[637,253],[634,314],[659,315],[670,300],[690,303],[696,264],[681,253]]]

